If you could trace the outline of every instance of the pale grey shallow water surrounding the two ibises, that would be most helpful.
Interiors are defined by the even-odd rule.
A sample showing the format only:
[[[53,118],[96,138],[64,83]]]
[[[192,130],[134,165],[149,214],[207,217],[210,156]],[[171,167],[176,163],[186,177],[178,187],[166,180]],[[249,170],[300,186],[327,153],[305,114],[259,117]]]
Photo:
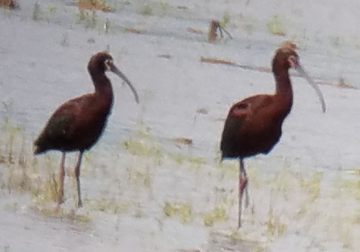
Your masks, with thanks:
[[[237,216],[236,176],[222,174],[216,160],[222,119],[233,102],[251,94],[272,92],[274,81],[267,72],[199,60],[202,56],[221,57],[243,65],[269,66],[276,46],[284,39],[294,39],[300,46],[303,66],[316,81],[337,82],[342,77],[346,83],[359,87],[360,37],[356,25],[360,18],[359,3],[344,4],[336,0],[331,4],[328,1],[316,4],[276,1],[278,5],[255,0],[241,3],[172,0],[167,5],[155,1],[124,3],[109,1],[116,4],[116,12],[97,12],[95,28],[86,28],[78,20],[77,8],[67,5],[67,1],[41,1],[41,20],[37,22],[32,18],[33,3],[21,3],[21,10],[17,11],[0,11],[0,100],[3,102],[0,116],[9,117],[24,127],[29,155],[32,139],[51,112],[64,100],[93,90],[86,62],[94,51],[110,49],[117,66],[136,86],[141,99],[136,105],[128,87],[121,85],[116,76],[109,75],[115,93],[113,112],[103,138],[84,164],[81,177],[88,202],[85,201],[80,213],[91,217],[90,224],[78,227],[72,221],[34,213],[36,203],[5,190],[2,205],[16,203],[16,207],[0,210],[0,234],[4,234],[0,235],[0,245],[4,250],[23,251],[33,246],[31,250],[39,251],[197,248],[251,251],[254,246],[260,246],[267,251],[282,251],[282,246],[295,244],[296,251],[356,251],[357,240],[350,239],[359,234],[356,222],[346,222],[345,228],[343,224],[341,230],[345,231],[340,234],[327,230],[334,216],[342,220],[343,214],[339,212],[346,210],[356,216],[359,209],[356,197],[355,200],[350,196],[342,198],[347,195],[345,190],[341,197],[333,196],[338,193],[334,189],[337,178],[348,179],[344,170],[357,168],[359,163],[360,136],[356,134],[360,122],[359,90],[321,85],[328,106],[327,113],[323,114],[315,91],[302,78],[292,79],[294,106],[283,125],[282,139],[269,155],[246,160],[249,170],[261,173],[258,179],[262,182],[254,186],[252,192],[257,213],[244,213],[246,226],[241,233],[242,242],[231,243],[228,238],[221,242],[226,236],[218,233],[231,233]],[[141,14],[144,5],[152,8],[152,15]],[[188,9],[181,10],[178,5]],[[50,13],[50,7],[54,6],[55,11]],[[230,16],[227,29],[234,39],[225,37],[216,44],[207,43],[210,19],[221,19],[225,12]],[[317,18],[320,12],[321,20]],[[274,36],[267,31],[266,24],[274,15],[283,23],[286,36]],[[111,23],[108,34],[103,29],[106,18]],[[147,30],[148,34],[125,33],[124,27]],[[189,33],[187,27],[201,29],[204,34]],[[89,39],[95,43],[87,42]],[[158,57],[165,54],[171,57]],[[196,113],[202,108],[207,110],[206,115]],[[139,136],[139,131],[144,131],[145,137]],[[191,138],[194,144],[176,145],[171,141],[175,137]],[[132,138],[159,146],[161,162],[151,155],[131,155],[123,142]],[[74,156],[70,156],[69,167],[74,161]],[[200,165],[183,162],[182,159],[188,157],[203,157],[205,161]],[[46,166],[44,159],[37,158]],[[57,172],[59,154],[50,154],[50,159],[53,161],[51,172]],[[46,176],[49,169],[42,168],[41,175]],[[284,169],[294,183],[291,188],[301,180],[297,173],[312,176],[314,171],[323,171],[321,196],[309,206],[310,210],[299,223],[288,213],[297,211],[306,193],[299,189],[297,197],[298,189],[290,190],[287,198],[293,198],[293,202],[289,202],[269,192],[269,187],[274,185],[267,184],[267,180]],[[6,168],[4,170],[7,174]],[[150,185],[145,181],[147,176],[151,179]],[[75,211],[72,180],[67,177],[66,211]],[[204,212],[220,204],[223,197],[229,198],[226,201],[228,220],[212,228],[205,227],[201,221]],[[267,211],[269,205],[274,204],[271,203],[274,198],[279,205],[275,212],[283,216],[287,226],[280,237],[269,237],[264,231]],[[130,207],[121,214],[103,213],[96,202],[104,199],[125,202]],[[162,205],[166,201],[190,202],[194,214],[191,221],[183,224],[176,217],[165,218]],[[333,206],[331,211],[329,206]],[[328,215],[318,217],[318,221],[311,219],[325,210],[329,211]],[[21,239],[13,240],[18,232]],[[321,235],[317,235],[319,232]],[[53,240],[55,233],[58,238]],[[344,246],[343,233],[348,233],[351,246]]]

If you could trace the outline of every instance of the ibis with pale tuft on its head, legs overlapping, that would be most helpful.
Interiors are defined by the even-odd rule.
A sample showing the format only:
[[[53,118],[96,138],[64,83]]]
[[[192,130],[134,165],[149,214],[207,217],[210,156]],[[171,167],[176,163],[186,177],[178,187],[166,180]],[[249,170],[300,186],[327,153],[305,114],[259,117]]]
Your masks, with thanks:
[[[221,159],[239,158],[239,219],[241,226],[242,197],[244,189],[248,188],[248,179],[243,159],[259,153],[267,154],[278,143],[282,134],[282,124],[291,111],[293,90],[289,77],[289,68],[295,68],[315,88],[319,95],[323,112],[324,98],[314,81],[300,66],[296,53],[297,46],[291,41],[285,41],[275,51],[272,70],[275,76],[275,94],[259,94],[250,96],[235,103],[226,118],[221,138]],[[248,189],[246,190],[246,206],[248,204]]]

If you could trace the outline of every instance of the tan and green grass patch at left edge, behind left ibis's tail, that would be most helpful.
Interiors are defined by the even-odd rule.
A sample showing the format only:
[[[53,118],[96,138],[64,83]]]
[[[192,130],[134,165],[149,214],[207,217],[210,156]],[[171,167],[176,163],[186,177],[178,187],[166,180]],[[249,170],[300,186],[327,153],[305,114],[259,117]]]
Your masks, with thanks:
[[[36,204],[56,201],[59,186],[51,172],[53,162],[50,156],[44,155],[46,167],[50,169],[41,179],[37,159],[28,154],[25,142],[23,127],[4,117],[0,128],[0,160],[6,169],[0,174],[0,188],[7,189],[9,194],[30,193]]]

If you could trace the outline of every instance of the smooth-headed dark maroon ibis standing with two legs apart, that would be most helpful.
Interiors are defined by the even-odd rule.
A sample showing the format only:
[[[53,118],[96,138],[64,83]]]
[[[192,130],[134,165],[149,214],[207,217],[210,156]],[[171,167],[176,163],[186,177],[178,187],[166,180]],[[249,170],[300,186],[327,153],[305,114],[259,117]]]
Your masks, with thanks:
[[[121,77],[130,86],[136,103],[139,103],[134,86],[115,66],[113,58],[107,52],[95,53],[90,58],[87,69],[93,80],[95,92],[73,98],[60,105],[34,142],[35,155],[48,150],[62,152],[59,204],[63,202],[64,197],[65,154],[72,151],[80,152],[75,166],[78,207],[82,206],[79,178],[82,154],[99,140],[113,104],[112,85],[105,71],[111,71]]]

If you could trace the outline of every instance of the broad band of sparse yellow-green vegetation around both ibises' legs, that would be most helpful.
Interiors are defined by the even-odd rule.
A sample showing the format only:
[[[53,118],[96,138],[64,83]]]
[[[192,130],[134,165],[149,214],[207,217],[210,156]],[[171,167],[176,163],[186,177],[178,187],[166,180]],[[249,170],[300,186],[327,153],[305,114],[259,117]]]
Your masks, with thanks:
[[[104,188],[100,188],[100,197],[92,199],[91,201],[85,199],[84,209],[89,209],[90,213],[84,213],[82,210],[69,209],[68,204],[55,206],[59,193],[59,178],[57,173],[59,156],[51,153],[44,154],[41,158],[33,157],[32,153],[30,154],[30,144],[25,144],[26,132],[23,127],[12,123],[7,117],[2,120],[0,126],[0,163],[2,167],[4,167],[4,169],[0,170],[0,188],[3,189],[0,191],[0,194],[22,193],[30,195],[33,205],[32,209],[35,209],[35,211],[42,215],[85,223],[91,221],[91,214],[94,212],[105,212],[111,215],[124,213],[126,215],[132,215],[132,217],[141,218],[148,215],[147,208],[143,206],[147,203],[153,204],[155,201],[163,213],[162,216],[165,216],[160,217],[160,228],[162,225],[161,221],[166,217],[174,217],[176,221],[184,224],[190,224],[193,220],[196,220],[202,221],[204,226],[234,227],[233,221],[228,220],[228,211],[230,211],[229,209],[237,209],[234,205],[238,202],[236,187],[239,174],[238,161],[226,161],[220,165],[218,163],[206,164],[204,157],[197,157],[191,154],[192,149],[190,145],[181,145],[179,148],[183,148],[183,151],[177,151],[175,149],[175,146],[178,146],[175,145],[176,143],[170,141],[170,139],[158,139],[150,133],[147,127],[140,125],[141,127],[139,127],[135,136],[127,139],[118,146],[119,148],[125,147],[132,155],[141,158],[127,157],[130,163],[125,164],[122,162],[109,164],[109,162],[114,161],[114,159],[111,159],[111,161],[102,165],[95,156],[96,152],[85,154],[82,175],[84,175],[83,172],[85,172],[85,177],[89,175],[90,172],[94,172],[94,177],[98,174],[103,175],[101,180],[104,180],[104,183],[109,183],[106,184],[109,186],[105,185]],[[175,149],[174,153],[171,153],[171,150],[167,149],[171,144],[171,147]],[[118,158],[120,158],[120,154]],[[153,162],[148,162],[149,160],[144,161],[144,158],[150,158],[150,161],[156,159],[157,165],[160,163],[160,160],[166,162],[163,162],[164,165],[161,167],[157,167]],[[171,163],[172,161],[174,163]],[[352,204],[359,203],[356,201],[360,200],[360,182],[357,177],[351,177],[357,176],[357,174],[346,174],[349,179],[339,178],[336,180],[334,191],[339,197],[329,197],[329,207],[335,208],[335,210],[332,209],[333,211],[323,213],[321,211],[323,211],[324,207],[327,207],[328,203],[324,199],[327,199],[326,197],[328,195],[326,194],[327,191],[321,191],[324,177],[322,171],[310,172],[308,174],[306,172],[296,173],[294,172],[296,169],[291,166],[291,164],[285,164],[284,168],[280,169],[275,175],[260,174],[260,171],[263,171],[263,167],[260,167],[261,170],[258,167],[254,167],[256,166],[254,164],[257,162],[258,161],[247,161],[249,185],[251,189],[254,189],[252,190],[252,193],[254,193],[252,194],[253,198],[251,195],[250,199],[251,202],[256,203],[256,207],[258,207],[257,210],[264,208],[264,206],[266,206],[265,202],[269,199],[267,198],[270,194],[269,191],[271,191],[270,209],[268,212],[266,212],[266,208],[265,210],[260,209],[260,211],[252,213],[251,218],[245,218],[248,220],[247,222],[252,223],[248,223],[248,228],[242,229],[240,232],[241,235],[237,231],[228,235],[229,238],[226,242],[229,242],[228,240],[234,243],[240,243],[239,240],[241,240],[241,242],[247,242],[246,239],[254,233],[260,233],[258,234],[260,236],[259,239],[271,242],[283,235],[287,229],[293,230],[293,227],[296,225],[294,222],[298,221],[299,226],[309,226],[312,232],[314,232],[314,229],[319,229],[320,231],[326,230],[327,227],[324,228],[324,226],[321,225],[328,225],[330,227],[329,229],[331,229],[329,233],[332,232],[332,234],[329,235],[336,235],[336,239],[342,243],[343,248],[351,250],[355,247],[354,244],[356,240],[354,235],[355,228],[357,229],[360,225],[360,212],[357,211],[357,209],[354,211],[350,211],[350,209],[353,207]],[[176,163],[182,166],[177,166]],[[194,183],[199,183],[190,185],[189,192],[195,187],[197,189],[205,188],[200,192],[199,190],[194,190],[196,194],[194,197],[198,198],[198,196],[202,196],[203,201],[208,199],[208,202],[215,202],[210,208],[201,209],[201,207],[204,206],[203,202],[196,204],[196,208],[193,208],[192,204],[187,201],[188,198],[181,198],[183,202],[177,202],[172,198],[172,200],[166,201],[163,204],[156,201],[158,200],[157,197],[146,198],[147,192],[152,192],[155,184],[153,181],[155,179],[158,180],[157,183],[163,182],[161,180],[163,179],[162,177],[155,176],[168,175],[168,166],[175,166],[180,169],[186,166],[193,168],[203,165],[206,165],[206,169],[209,168],[209,170],[203,169],[196,171],[196,174],[191,173],[192,170],[190,170],[186,171],[187,173],[185,175],[195,175],[189,180],[190,182],[188,182],[191,183],[191,181],[194,181]],[[71,171],[67,171],[67,175],[73,174],[72,167],[73,166],[71,166]],[[69,169],[70,167],[67,168]],[[165,173],[162,173],[163,171],[165,171]],[[101,174],[101,172],[103,172],[103,174]],[[204,178],[202,175],[204,175]],[[221,181],[225,176],[229,176],[231,179],[226,177],[226,179]],[[109,178],[111,179],[106,181],[106,179]],[[72,181],[72,189],[75,191],[75,180],[73,178],[67,178],[67,180]],[[88,181],[89,180],[85,180],[84,184],[86,185]],[[179,179],[177,181],[179,181]],[[208,182],[210,182],[211,185],[207,185],[210,184]],[[229,185],[229,183],[233,185]],[[66,183],[66,185],[69,184],[71,185],[71,183]],[[204,184],[208,187],[205,187]],[[186,184],[186,186],[188,186],[188,184]],[[216,186],[215,192],[214,186]],[[154,188],[156,188],[156,190],[154,190],[154,192],[156,192],[158,187],[154,186]],[[176,186],[175,188],[167,189],[169,192],[165,192],[165,194],[167,194],[165,197],[174,195],[174,191],[171,190],[183,190],[183,187],[180,189]],[[206,189],[209,189],[207,194]],[[89,191],[91,192],[91,190],[86,190],[85,193],[89,193]],[[65,192],[68,194],[69,188],[66,188]],[[116,192],[121,192],[119,197],[114,195]],[[185,192],[185,194],[189,192]],[[203,195],[204,192],[205,195]],[[296,195],[296,197],[294,197],[294,195]],[[140,199],[134,199],[134,196]],[[93,197],[93,194],[91,194],[91,198]],[[76,193],[70,197],[68,196],[68,198],[76,199]],[[126,198],[126,200],[122,201],[121,199],[123,198]],[[337,201],[332,201],[332,199],[336,199]],[[341,199],[341,201],[339,199]],[[135,201],[141,202],[141,204],[136,205]],[[343,204],[339,209],[337,209],[338,203]],[[17,211],[20,209],[20,204],[20,202],[10,202],[4,204],[3,208],[10,211]],[[274,208],[272,206],[274,206]],[[200,209],[198,209],[198,207]],[[82,212],[82,214],[79,212]],[[250,211],[247,210],[244,214],[248,217],[250,215],[249,212]],[[338,214],[339,212],[341,214]],[[232,217],[235,218],[235,216]],[[334,220],[338,220],[338,223],[341,223],[341,225],[335,225],[335,227],[332,228],[332,226],[334,226]],[[339,226],[339,228],[337,226]],[[259,229],[263,229],[263,232],[257,232]],[[251,249],[259,252],[262,251],[263,248],[252,247]]]

